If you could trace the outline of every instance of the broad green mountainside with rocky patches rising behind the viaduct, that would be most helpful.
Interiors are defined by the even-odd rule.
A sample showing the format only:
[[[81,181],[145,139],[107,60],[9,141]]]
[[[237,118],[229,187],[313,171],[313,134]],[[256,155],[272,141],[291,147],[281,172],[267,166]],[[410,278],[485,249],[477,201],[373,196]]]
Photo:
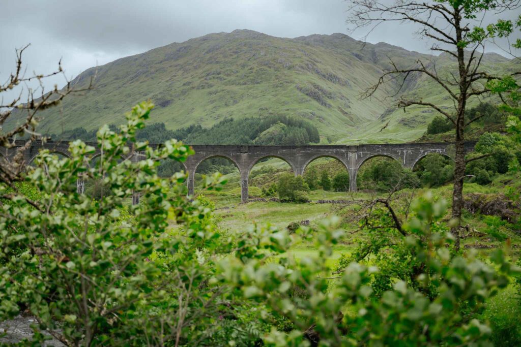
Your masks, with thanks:
[[[103,123],[120,124],[129,105],[152,99],[156,108],[151,122],[164,122],[169,130],[193,124],[210,127],[227,118],[281,115],[311,122],[323,144],[415,140],[436,113],[393,108],[398,84],[360,99],[361,92],[390,67],[390,59],[403,68],[430,59],[439,71],[453,64],[443,56],[385,43],[364,46],[344,34],[279,38],[249,30],[215,33],[84,71],[73,84],[85,85],[96,73],[95,89],[67,98],[61,110],[42,112],[40,128],[59,134],[77,127],[93,130]],[[483,60],[490,71],[506,71],[513,65],[494,54]],[[407,83],[403,93],[452,106],[435,83],[420,75]]]

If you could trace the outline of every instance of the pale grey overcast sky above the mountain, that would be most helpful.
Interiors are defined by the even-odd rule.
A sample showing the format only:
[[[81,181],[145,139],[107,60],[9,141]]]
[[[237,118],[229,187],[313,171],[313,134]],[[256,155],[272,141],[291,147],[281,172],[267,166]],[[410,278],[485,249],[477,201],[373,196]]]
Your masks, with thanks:
[[[92,66],[213,32],[363,37],[365,32],[349,32],[347,8],[343,0],[1,0],[0,79],[14,69],[15,48],[28,43],[28,71],[51,72],[61,58],[73,78]],[[429,53],[410,25],[382,25],[367,41]],[[62,86],[64,80],[48,80],[47,86],[54,83]]]

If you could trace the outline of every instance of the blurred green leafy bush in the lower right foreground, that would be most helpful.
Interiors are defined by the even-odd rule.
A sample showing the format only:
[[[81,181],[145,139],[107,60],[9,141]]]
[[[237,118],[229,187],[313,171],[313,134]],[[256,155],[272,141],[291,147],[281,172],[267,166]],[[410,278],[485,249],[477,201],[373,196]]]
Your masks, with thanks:
[[[303,345],[309,327],[320,345],[485,345],[490,328],[472,312],[480,312],[519,269],[505,260],[501,250],[491,256],[494,265],[472,254],[465,258],[451,254],[445,245],[452,236],[440,222],[445,211],[446,203],[431,196],[413,204],[414,217],[405,225],[407,236],[394,238],[387,251],[395,264],[401,259],[404,271],[415,269],[405,279],[396,277],[400,272],[388,273],[388,268],[351,262],[331,285],[322,274],[327,272],[332,245],[343,235],[338,219],[322,222],[313,233],[301,228],[301,236],[315,242],[316,256],[301,262],[283,256],[277,263],[265,262],[288,249],[290,238],[284,231],[268,238],[268,230],[257,227],[241,252],[224,259],[220,268],[245,298],[292,322],[289,333],[272,327],[264,340],[268,345]],[[377,292],[374,285],[380,276],[390,283]],[[295,287],[301,288],[299,295],[291,290]]]

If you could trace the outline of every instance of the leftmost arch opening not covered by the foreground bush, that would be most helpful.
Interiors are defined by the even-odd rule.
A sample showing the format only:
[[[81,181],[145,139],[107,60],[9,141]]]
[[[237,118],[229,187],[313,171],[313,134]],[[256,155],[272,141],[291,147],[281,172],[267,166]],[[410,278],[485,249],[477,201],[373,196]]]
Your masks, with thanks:
[[[220,191],[203,190],[204,177],[214,173],[221,173],[227,183]],[[237,162],[226,156],[210,156],[199,161],[193,172],[193,193],[194,195],[203,193],[214,203],[239,203],[242,195],[241,172]]]

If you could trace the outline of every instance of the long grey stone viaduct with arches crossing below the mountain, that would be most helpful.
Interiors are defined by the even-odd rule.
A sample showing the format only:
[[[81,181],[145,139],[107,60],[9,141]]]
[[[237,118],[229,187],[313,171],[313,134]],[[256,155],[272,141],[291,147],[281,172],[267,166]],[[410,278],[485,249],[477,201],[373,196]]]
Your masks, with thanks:
[[[16,142],[22,146],[23,141]],[[95,143],[88,143],[97,147]],[[475,142],[465,143],[465,152],[474,150]],[[151,145],[153,147],[157,145]],[[45,148],[63,156],[70,157],[67,142],[34,142],[24,152],[26,164],[30,164],[40,149]],[[194,177],[197,166],[209,158],[229,159],[239,170],[241,175],[241,201],[248,200],[248,177],[253,166],[266,158],[279,158],[287,162],[295,175],[303,175],[306,166],[318,158],[334,158],[339,160],[349,172],[350,191],[356,191],[356,175],[362,164],[373,157],[389,157],[404,166],[412,169],[421,158],[428,153],[439,153],[440,155],[453,159],[453,143],[408,143],[408,144],[382,144],[382,145],[326,145],[326,146],[214,146],[194,145],[195,155],[190,156],[183,163],[188,173],[188,194],[194,194]],[[14,155],[16,149],[1,149],[0,155],[9,159]],[[93,159],[101,154],[98,149]],[[139,160],[139,156],[131,156],[131,160]],[[83,192],[83,182],[78,182],[78,191]],[[138,203],[139,196],[134,196],[132,203]]]

